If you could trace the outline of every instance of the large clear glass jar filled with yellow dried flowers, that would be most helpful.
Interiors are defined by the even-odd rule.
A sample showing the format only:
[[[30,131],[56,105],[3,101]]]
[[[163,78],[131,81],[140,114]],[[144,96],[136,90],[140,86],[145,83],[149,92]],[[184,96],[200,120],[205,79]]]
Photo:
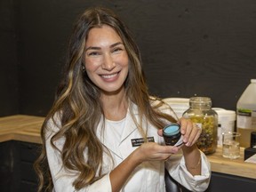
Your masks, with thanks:
[[[197,147],[206,155],[214,153],[217,148],[218,114],[212,109],[212,100],[208,97],[190,98],[189,108],[183,117],[202,128]]]

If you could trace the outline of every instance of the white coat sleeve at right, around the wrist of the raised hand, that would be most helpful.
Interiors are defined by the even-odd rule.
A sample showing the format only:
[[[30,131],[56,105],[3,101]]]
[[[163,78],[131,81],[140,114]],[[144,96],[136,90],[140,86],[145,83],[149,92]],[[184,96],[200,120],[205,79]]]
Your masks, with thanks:
[[[201,153],[201,175],[191,175],[185,164],[184,156],[171,156],[165,162],[165,167],[174,180],[177,180],[182,186],[191,191],[205,191],[211,179],[211,164],[202,151]],[[180,156],[181,159],[180,159]]]

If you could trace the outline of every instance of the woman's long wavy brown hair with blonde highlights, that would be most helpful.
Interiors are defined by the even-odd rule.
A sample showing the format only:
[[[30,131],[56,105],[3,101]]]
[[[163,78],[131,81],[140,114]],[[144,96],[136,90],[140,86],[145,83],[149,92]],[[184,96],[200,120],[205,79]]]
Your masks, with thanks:
[[[100,105],[100,89],[92,83],[82,67],[88,32],[90,29],[99,28],[102,25],[108,25],[116,30],[128,54],[129,73],[124,82],[125,94],[127,100],[132,101],[139,108],[140,122],[135,122],[135,124],[138,125],[141,134],[146,135],[141,127],[144,117],[148,119],[150,124],[154,124],[159,129],[164,126],[163,119],[171,122],[176,121],[172,116],[161,113],[157,109],[160,107],[159,105],[151,106],[151,101],[156,100],[156,97],[155,99],[149,97],[140,51],[128,28],[114,12],[106,8],[87,9],[77,20],[72,36],[70,36],[63,80],[56,92],[52,109],[45,117],[42,126],[43,147],[41,155],[35,163],[35,170],[39,178],[38,191],[50,191],[53,188],[45,150],[45,132],[47,132],[47,122],[60,112],[60,131],[53,135],[51,144],[52,148],[57,150],[58,148],[54,146],[53,142],[62,137],[65,138],[60,154],[63,167],[78,172],[73,183],[74,187],[76,189],[84,188],[102,177],[102,172],[99,176],[96,176],[96,172],[101,170],[104,148],[95,133],[100,116],[104,116]],[[163,102],[160,100],[159,103],[161,105]],[[134,116],[133,120],[136,121]],[[88,151],[86,158],[88,160],[84,158],[85,148]]]

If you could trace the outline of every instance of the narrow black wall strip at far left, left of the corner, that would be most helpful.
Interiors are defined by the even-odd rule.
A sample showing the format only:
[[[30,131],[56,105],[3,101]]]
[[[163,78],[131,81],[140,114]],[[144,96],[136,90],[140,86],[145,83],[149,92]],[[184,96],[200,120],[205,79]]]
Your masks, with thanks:
[[[0,116],[18,113],[16,36],[13,4],[0,1]]]

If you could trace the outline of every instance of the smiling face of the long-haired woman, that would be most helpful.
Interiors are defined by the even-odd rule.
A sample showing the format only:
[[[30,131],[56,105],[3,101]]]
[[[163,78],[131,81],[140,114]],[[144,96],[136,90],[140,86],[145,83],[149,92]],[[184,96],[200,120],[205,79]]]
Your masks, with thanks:
[[[85,69],[102,92],[118,92],[124,88],[129,59],[124,44],[113,28],[92,28],[85,44]]]

